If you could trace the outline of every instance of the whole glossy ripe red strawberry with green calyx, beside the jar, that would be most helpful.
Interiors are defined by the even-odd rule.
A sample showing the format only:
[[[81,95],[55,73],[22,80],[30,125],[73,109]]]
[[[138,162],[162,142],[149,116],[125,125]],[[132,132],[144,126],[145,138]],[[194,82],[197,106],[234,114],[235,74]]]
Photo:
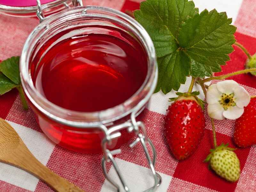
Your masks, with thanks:
[[[169,106],[165,117],[166,139],[173,155],[179,160],[194,153],[205,128],[204,113],[198,104],[201,100],[184,94]]]

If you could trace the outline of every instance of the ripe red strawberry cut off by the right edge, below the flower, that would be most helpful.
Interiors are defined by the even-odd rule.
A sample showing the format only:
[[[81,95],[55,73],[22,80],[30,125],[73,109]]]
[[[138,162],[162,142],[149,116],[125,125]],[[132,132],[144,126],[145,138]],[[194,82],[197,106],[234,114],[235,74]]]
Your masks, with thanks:
[[[239,147],[256,144],[256,98],[244,108],[244,114],[236,119],[234,141]]]

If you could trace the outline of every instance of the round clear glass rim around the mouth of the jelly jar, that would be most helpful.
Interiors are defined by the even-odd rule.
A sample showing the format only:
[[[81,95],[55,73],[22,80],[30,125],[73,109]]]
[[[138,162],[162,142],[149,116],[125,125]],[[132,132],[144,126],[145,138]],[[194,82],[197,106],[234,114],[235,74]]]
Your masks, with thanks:
[[[36,90],[33,84],[29,72],[29,59],[33,52],[33,47],[36,45],[36,41],[39,40],[36,39],[35,41],[33,37],[42,33],[42,31],[46,33],[47,29],[51,28],[51,22],[54,22],[54,20],[60,20],[60,18],[65,18],[68,15],[73,15],[74,18],[79,13],[83,14],[84,17],[100,17],[103,15],[99,13],[87,13],[87,11],[94,10],[104,12],[105,14],[109,13],[111,15],[114,15],[116,16],[115,20],[117,21],[120,21],[119,18],[122,18],[125,22],[132,24],[132,27],[137,30],[141,37],[140,41],[143,42],[145,51],[148,55],[148,72],[146,79],[137,90],[137,92],[135,92],[129,99],[125,100],[123,103],[113,108],[95,112],[78,112],[61,108],[60,106],[53,104],[43,95],[41,95]],[[66,9],[51,16],[48,16],[30,33],[24,44],[20,57],[20,76],[24,92],[26,93],[30,102],[41,113],[61,124],[84,128],[98,127],[101,124],[107,124],[121,119],[122,117],[127,116],[133,111],[139,111],[148,102],[149,98],[151,97],[156,88],[158,70],[153,42],[147,31],[136,20],[126,15],[125,13],[110,8],[100,6],[79,6]],[[143,91],[146,92],[146,95],[141,98],[140,93]],[[138,102],[134,102],[134,100],[138,100]]]

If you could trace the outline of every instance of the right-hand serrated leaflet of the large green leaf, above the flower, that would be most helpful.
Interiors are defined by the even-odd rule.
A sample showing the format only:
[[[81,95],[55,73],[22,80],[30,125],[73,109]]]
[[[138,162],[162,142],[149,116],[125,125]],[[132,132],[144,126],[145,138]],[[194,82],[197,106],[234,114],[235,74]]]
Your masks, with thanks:
[[[225,12],[214,9],[204,10],[182,24],[178,40],[196,65],[191,68],[192,76],[212,76],[212,72],[220,72],[220,65],[230,60],[228,54],[234,51],[231,45],[236,42],[233,35],[236,27],[231,22]]]

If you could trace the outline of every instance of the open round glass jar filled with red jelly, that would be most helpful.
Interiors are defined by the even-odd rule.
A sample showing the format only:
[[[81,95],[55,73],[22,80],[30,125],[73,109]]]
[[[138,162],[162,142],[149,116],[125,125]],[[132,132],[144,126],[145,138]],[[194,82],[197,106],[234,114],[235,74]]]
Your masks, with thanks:
[[[153,43],[124,13],[75,7],[45,18],[20,57],[21,81],[43,132],[60,146],[99,153],[108,128],[145,108],[157,81]],[[108,149],[134,135],[121,131]]]

